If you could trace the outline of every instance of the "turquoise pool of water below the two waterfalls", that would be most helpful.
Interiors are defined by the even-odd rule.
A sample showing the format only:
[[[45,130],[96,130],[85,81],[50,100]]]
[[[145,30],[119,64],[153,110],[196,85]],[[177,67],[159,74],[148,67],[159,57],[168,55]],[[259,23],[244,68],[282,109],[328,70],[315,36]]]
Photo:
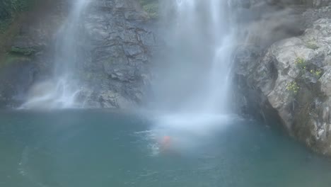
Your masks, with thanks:
[[[154,123],[114,111],[0,112],[0,186],[331,184],[328,159],[267,125],[233,119],[197,134]],[[173,138],[168,149],[163,135]]]

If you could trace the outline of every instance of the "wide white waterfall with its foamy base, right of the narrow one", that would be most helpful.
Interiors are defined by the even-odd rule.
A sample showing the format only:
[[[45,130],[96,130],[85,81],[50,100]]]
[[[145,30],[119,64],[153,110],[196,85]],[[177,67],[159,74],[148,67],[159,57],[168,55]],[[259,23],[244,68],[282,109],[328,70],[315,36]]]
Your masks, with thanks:
[[[167,50],[156,68],[155,108],[162,116],[156,120],[157,129],[181,138],[187,133],[208,135],[233,119],[228,105],[236,45],[231,1],[163,3]]]

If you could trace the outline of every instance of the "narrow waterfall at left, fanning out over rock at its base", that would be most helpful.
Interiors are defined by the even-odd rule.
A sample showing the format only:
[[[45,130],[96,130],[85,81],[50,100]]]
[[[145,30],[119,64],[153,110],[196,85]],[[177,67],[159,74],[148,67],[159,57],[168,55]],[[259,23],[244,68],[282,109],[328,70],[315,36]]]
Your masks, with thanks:
[[[30,89],[28,101],[22,108],[70,108],[78,107],[75,102],[79,94],[75,80],[75,66],[80,61],[79,42],[81,14],[89,0],[75,0],[71,12],[57,33],[55,42],[54,74],[52,79],[35,84]]]

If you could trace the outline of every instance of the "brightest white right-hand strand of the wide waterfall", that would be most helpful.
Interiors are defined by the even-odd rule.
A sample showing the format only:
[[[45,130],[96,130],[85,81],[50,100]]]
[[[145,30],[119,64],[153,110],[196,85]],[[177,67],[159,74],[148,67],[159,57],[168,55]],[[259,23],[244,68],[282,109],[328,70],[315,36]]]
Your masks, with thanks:
[[[234,28],[231,25],[230,13],[227,1],[211,0],[211,36],[215,38],[214,57],[211,62],[209,80],[209,93],[207,93],[207,105],[205,110],[209,113],[226,113],[228,110],[229,74],[231,72],[231,55],[235,38]]]

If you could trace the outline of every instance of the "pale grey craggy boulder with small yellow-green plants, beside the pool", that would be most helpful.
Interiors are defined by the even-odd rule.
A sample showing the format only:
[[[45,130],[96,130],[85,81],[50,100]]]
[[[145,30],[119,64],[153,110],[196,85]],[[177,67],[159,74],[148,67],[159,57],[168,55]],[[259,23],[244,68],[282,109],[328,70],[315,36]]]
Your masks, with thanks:
[[[331,19],[326,15],[308,25],[303,35],[275,42],[255,52],[260,54],[256,58],[238,56],[236,74],[245,80],[246,91],[262,95],[257,100],[260,107],[277,111],[291,135],[316,152],[331,155]]]

